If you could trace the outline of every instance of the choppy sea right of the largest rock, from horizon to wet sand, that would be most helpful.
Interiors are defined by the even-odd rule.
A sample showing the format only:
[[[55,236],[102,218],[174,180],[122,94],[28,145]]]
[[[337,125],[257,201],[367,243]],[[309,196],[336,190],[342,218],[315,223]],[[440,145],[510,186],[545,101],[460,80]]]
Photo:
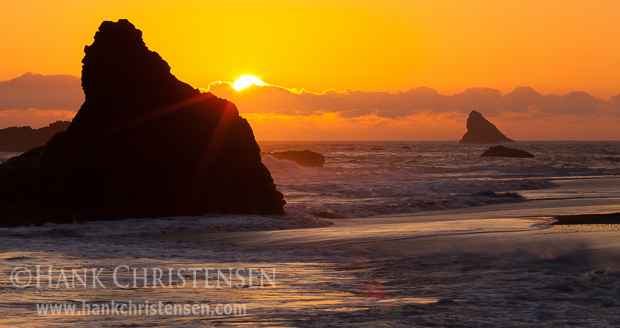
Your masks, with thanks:
[[[553,180],[620,175],[618,141],[524,141],[535,158],[481,157],[489,146],[453,141],[261,142],[263,152],[311,150],[323,168],[265,157],[291,214],[327,218],[463,208],[536,198]],[[532,195],[533,196],[533,195]]]

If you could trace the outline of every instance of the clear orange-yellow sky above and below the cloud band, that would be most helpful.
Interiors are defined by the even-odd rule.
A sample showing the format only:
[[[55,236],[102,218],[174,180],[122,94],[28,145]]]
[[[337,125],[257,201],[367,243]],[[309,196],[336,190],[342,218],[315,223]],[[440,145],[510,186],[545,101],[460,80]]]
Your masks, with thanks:
[[[611,0],[0,0],[0,81],[26,72],[79,76],[83,47],[92,42],[101,21],[128,18],[143,31],[149,48],[168,61],[173,74],[194,87],[207,88],[213,81],[252,74],[267,83],[315,93],[328,89],[398,93],[429,87],[451,96],[472,87],[507,94],[517,86],[530,86],[544,95],[585,91],[611,101],[620,94],[619,16],[620,1]],[[239,109],[242,114],[256,114]],[[463,111],[455,111],[455,125],[442,139],[458,139],[464,132]],[[611,121],[601,113],[591,114],[590,122],[599,120],[609,126],[581,126],[591,133],[578,138],[620,138],[614,132],[618,109],[607,113]],[[320,121],[321,115],[317,111],[313,117]],[[437,130],[424,122],[451,122],[443,111],[431,109],[424,114],[426,121],[420,115],[409,115],[409,125],[394,118],[391,124],[379,119],[365,124],[378,129],[379,139],[382,135],[384,139],[424,139],[422,133],[407,133],[404,126],[430,132]],[[506,126],[516,124],[510,113],[496,116]],[[0,120],[3,117],[13,116],[5,111]],[[268,131],[278,124],[288,124],[283,130],[294,131],[303,120],[293,124],[276,116],[263,118],[270,123],[251,120],[257,138],[302,139],[292,132]],[[353,122],[345,122],[342,115],[325,120],[336,128]],[[21,122],[5,119],[0,126],[9,121]],[[574,121],[564,117],[552,134],[537,130],[516,138],[566,138],[575,130],[569,128]],[[545,122],[530,126],[545,126]],[[339,138],[363,139],[365,134],[355,126]],[[405,132],[393,136],[393,129],[381,132],[381,126],[400,126]]]

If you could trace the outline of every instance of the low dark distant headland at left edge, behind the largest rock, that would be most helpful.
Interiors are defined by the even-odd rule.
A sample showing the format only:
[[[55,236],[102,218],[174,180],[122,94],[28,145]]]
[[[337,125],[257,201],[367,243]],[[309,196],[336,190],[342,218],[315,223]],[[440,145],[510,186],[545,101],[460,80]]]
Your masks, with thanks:
[[[12,126],[0,130],[0,151],[24,152],[45,145],[58,132],[69,127],[69,121],[57,121],[48,126],[33,129],[29,126]]]

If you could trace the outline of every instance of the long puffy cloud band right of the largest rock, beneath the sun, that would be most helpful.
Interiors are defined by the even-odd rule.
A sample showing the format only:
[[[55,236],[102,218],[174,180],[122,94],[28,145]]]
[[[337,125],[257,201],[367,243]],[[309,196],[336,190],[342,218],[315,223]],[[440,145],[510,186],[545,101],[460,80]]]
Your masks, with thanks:
[[[342,118],[376,115],[398,119],[427,111],[467,114],[471,110],[491,118],[511,113],[536,113],[539,117],[607,115],[617,113],[620,104],[617,97],[602,100],[586,92],[542,95],[530,87],[517,87],[506,94],[490,88],[469,88],[453,95],[443,95],[427,87],[397,93],[359,90],[313,93],[266,85],[238,92],[228,82],[215,82],[208,90],[235,102],[245,113],[302,116],[336,113]]]

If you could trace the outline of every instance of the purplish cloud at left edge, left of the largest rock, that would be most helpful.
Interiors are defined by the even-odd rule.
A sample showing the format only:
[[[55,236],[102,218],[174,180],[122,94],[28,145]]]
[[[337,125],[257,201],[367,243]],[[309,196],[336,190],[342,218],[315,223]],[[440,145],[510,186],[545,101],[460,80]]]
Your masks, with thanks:
[[[72,75],[26,73],[0,82],[0,111],[70,110],[77,111],[84,102],[80,78]]]

